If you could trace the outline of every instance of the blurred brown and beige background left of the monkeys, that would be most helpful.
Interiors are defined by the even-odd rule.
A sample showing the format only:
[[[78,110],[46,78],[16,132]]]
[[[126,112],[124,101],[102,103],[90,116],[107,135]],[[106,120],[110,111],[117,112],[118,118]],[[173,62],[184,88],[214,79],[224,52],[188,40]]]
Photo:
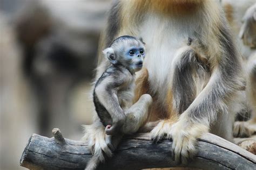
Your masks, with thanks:
[[[82,137],[109,0],[0,0],[0,169],[32,133]]]

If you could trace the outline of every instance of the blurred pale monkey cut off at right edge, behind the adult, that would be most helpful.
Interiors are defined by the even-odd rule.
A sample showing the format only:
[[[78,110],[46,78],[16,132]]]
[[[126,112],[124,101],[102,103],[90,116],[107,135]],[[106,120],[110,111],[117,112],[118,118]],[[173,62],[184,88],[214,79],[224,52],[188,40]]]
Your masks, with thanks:
[[[234,123],[233,133],[234,137],[250,137],[256,132],[256,2],[223,0],[221,4],[228,23],[237,37],[247,79],[245,100],[242,100],[244,109],[238,115],[240,117],[238,122]],[[250,120],[247,121],[248,118]]]

